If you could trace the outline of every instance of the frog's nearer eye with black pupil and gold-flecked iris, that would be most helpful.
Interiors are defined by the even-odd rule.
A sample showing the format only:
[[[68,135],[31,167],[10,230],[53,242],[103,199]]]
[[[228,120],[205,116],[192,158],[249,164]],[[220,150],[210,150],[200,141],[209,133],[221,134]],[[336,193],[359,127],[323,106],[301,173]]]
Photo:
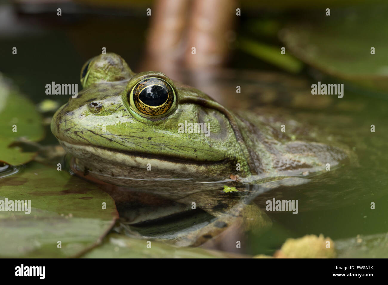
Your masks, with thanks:
[[[140,112],[150,116],[165,114],[175,100],[175,92],[171,85],[157,77],[142,79],[133,86],[128,95],[132,96],[133,103]]]

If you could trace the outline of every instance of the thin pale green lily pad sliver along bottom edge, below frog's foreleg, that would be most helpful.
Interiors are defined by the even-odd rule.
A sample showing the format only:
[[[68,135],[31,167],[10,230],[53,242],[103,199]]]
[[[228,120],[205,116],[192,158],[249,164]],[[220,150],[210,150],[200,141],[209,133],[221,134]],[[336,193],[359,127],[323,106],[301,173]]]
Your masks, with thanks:
[[[148,245],[148,247],[147,247]],[[149,247],[151,246],[151,247]],[[193,247],[175,247],[163,242],[139,240],[117,233],[109,234],[104,243],[83,258],[232,258],[248,257]]]

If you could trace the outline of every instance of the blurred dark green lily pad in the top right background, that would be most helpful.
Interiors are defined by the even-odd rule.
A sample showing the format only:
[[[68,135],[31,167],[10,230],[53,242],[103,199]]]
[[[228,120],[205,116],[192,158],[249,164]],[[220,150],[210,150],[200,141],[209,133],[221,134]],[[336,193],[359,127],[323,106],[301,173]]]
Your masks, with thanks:
[[[279,33],[287,50],[303,62],[364,88],[386,92],[388,6],[360,6],[311,13]],[[371,54],[374,48],[374,54]]]

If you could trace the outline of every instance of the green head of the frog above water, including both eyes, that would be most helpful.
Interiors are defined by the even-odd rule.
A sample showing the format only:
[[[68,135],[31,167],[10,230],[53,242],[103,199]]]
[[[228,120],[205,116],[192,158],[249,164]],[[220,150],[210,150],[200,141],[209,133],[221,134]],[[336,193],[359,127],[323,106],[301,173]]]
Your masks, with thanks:
[[[81,84],[51,123],[77,168],[110,182],[249,174],[234,115],[196,88],[113,53],[88,60]]]

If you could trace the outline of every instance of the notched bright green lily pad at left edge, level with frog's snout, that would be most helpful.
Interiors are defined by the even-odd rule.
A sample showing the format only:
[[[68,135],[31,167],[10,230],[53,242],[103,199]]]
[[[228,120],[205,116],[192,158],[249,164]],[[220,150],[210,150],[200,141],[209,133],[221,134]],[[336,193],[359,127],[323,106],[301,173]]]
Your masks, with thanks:
[[[12,89],[0,74],[0,161],[20,165],[31,161],[36,152],[22,152],[11,147],[17,140],[37,141],[43,138],[40,114],[35,105]]]

